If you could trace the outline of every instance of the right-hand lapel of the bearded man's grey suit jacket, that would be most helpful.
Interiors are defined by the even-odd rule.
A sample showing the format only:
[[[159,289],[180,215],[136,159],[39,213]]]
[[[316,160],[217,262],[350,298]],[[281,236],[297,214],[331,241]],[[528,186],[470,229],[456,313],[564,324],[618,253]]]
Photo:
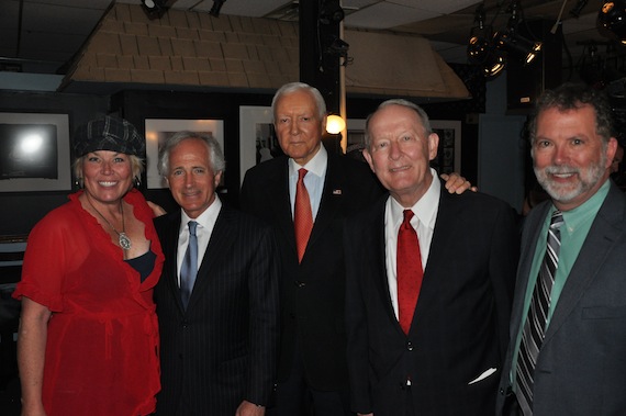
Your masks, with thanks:
[[[612,256],[615,243],[625,232],[622,226],[625,205],[621,191],[612,184],[570,271],[544,342],[549,341],[572,313],[586,289],[593,283],[605,259]]]

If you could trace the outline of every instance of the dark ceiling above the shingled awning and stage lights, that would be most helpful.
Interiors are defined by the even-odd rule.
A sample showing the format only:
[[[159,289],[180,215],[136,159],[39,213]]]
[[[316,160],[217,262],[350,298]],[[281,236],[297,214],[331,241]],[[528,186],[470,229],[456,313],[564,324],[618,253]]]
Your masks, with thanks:
[[[171,1],[171,0],[170,0]],[[35,74],[64,74],[75,53],[87,40],[111,0],[2,0],[0,13],[0,70]],[[118,0],[139,4],[139,0]],[[280,10],[297,10],[290,0],[226,0],[221,14],[245,16],[276,15]],[[448,63],[466,63],[466,45],[474,25],[474,11],[484,3],[485,21],[495,30],[504,27],[511,0],[343,0],[346,27],[406,32],[428,38]],[[564,3],[564,4],[563,4]],[[577,19],[571,14],[584,5]],[[588,54],[590,43],[597,54],[606,55],[608,41],[596,29],[600,0],[521,0],[527,21],[556,22],[562,8],[564,34],[563,67],[577,66]],[[178,0],[172,8],[209,12],[213,0]],[[291,14],[297,15],[297,13]],[[624,46],[617,53],[624,54]]]

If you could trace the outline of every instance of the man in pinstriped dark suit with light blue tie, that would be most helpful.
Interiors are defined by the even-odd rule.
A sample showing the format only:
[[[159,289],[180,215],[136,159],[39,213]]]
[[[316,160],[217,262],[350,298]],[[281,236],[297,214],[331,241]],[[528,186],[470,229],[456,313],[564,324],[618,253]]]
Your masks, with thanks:
[[[180,132],[159,153],[159,171],[182,209],[155,220],[166,256],[155,289],[159,415],[260,416],[276,380],[276,241],[257,218],[222,204],[215,188],[223,169],[211,136]],[[195,267],[186,266],[191,246]]]

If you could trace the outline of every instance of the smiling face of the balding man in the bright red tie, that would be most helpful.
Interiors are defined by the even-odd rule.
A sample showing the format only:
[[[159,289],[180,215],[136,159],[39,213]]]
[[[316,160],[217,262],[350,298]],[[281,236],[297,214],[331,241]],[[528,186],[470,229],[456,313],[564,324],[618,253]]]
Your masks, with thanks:
[[[429,161],[437,156],[439,136],[426,134],[417,112],[398,104],[378,110],[368,131],[364,156],[371,170],[402,206],[414,205],[433,181]]]

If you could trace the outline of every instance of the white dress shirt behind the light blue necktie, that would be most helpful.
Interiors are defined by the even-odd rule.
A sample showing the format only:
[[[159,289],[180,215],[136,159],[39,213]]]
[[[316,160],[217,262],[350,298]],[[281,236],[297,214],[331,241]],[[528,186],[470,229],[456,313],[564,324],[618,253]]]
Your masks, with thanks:
[[[204,254],[206,252],[206,247],[209,246],[209,240],[211,239],[211,234],[213,233],[213,227],[217,221],[217,215],[222,209],[222,201],[215,194],[215,200],[198,218],[190,218],[189,215],[180,210],[180,229],[178,232],[178,254],[176,256],[176,267],[178,272],[178,285],[180,286],[180,268],[182,267],[182,260],[185,259],[185,252],[187,251],[187,246],[189,245],[189,225],[190,221],[195,221],[198,227],[195,228],[195,236],[198,237],[198,269],[202,265],[202,259],[204,259]]]

